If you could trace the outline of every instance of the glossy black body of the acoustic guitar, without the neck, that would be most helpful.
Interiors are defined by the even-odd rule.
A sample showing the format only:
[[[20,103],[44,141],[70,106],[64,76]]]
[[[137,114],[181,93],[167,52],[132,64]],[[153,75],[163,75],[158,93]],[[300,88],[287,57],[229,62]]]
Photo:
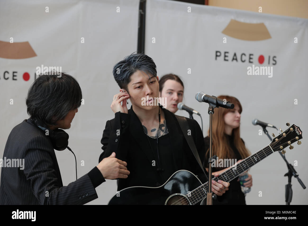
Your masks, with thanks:
[[[190,205],[185,195],[201,185],[192,172],[179,170],[160,187],[125,188],[117,192],[108,205]]]

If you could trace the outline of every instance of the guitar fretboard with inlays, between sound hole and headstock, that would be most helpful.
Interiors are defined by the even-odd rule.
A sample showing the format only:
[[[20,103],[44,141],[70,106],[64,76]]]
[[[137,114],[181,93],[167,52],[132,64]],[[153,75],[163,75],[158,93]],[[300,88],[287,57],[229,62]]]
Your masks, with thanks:
[[[246,170],[250,169],[253,165],[256,165],[258,162],[262,161],[272,153],[274,153],[274,150],[270,145],[268,145],[260,151],[257,151],[251,156],[245,158],[243,161],[237,163],[230,169],[227,169],[226,171],[222,172],[219,176],[214,177],[212,180],[216,182],[218,180],[230,182],[231,180],[233,180]],[[194,205],[206,198],[206,193],[208,192],[209,188],[208,183],[209,182],[202,184],[200,187],[194,189],[186,195],[186,198],[189,200],[190,204]]]

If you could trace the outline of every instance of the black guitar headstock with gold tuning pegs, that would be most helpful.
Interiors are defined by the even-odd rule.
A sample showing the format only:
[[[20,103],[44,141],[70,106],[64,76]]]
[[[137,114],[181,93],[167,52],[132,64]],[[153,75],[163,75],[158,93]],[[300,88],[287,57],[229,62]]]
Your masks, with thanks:
[[[285,131],[282,131],[282,129],[280,129],[282,133],[280,133],[277,137],[274,137],[274,133],[272,133],[274,139],[270,143],[270,147],[273,149],[274,152],[282,151],[289,145],[289,148],[293,149],[294,146],[292,146],[291,144],[293,144],[294,142],[297,142],[298,145],[302,143],[301,141],[299,141],[303,138],[302,130],[294,124],[290,125],[290,123],[287,123],[286,125],[288,125],[289,128]],[[284,153],[286,153],[286,151],[283,150],[282,154]]]

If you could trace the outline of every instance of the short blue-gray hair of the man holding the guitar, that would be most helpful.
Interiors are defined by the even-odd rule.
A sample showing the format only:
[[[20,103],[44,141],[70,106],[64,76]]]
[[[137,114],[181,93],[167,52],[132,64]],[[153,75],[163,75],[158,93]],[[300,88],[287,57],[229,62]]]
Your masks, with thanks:
[[[130,77],[137,70],[154,75],[156,77],[156,65],[151,57],[145,54],[134,54],[127,56],[124,60],[113,66],[113,77],[121,89],[127,90]],[[128,91],[128,90],[127,90]]]

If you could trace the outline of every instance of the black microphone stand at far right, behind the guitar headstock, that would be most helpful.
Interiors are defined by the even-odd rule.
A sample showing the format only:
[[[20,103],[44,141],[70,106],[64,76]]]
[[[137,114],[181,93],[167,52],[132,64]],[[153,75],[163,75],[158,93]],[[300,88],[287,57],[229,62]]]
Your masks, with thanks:
[[[262,126],[264,133],[268,136],[268,138],[270,139],[270,141],[272,141],[270,135],[268,134],[265,126]],[[277,129],[277,128],[276,128]],[[278,130],[278,129],[277,129]],[[284,151],[284,150],[282,150]],[[302,180],[299,179],[298,177],[298,173],[296,172],[296,170],[294,169],[293,165],[291,165],[287,160],[284,154],[282,154],[281,152],[279,152],[279,154],[281,155],[281,157],[283,158],[283,160],[286,162],[287,167],[288,167],[288,172],[284,175],[284,176],[288,176],[288,184],[286,184],[285,186],[285,198],[286,198],[286,205],[290,205],[291,200],[292,200],[292,195],[293,195],[293,191],[292,191],[292,184],[291,184],[291,179],[292,176],[294,176],[297,180],[298,183],[302,186],[303,189],[306,188],[306,186],[303,184]]]

